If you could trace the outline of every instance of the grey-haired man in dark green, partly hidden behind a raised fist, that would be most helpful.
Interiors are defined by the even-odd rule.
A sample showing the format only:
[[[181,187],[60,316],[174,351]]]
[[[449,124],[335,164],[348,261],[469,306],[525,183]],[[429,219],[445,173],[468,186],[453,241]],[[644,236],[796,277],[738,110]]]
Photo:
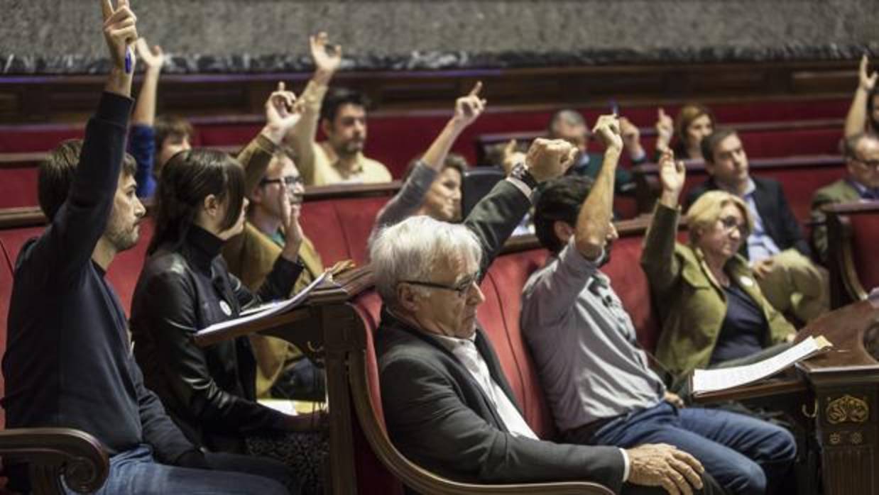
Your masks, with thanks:
[[[647,154],[641,146],[638,128],[627,119],[621,118],[623,138],[632,159],[632,163],[647,161]],[[568,174],[588,176],[594,179],[599,175],[601,160],[604,155],[589,153],[589,127],[586,126],[585,118],[579,111],[564,109],[556,111],[549,120],[549,139],[566,140],[577,147],[578,159],[568,171]],[[634,193],[635,182],[632,175],[625,169],[616,169],[616,192],[620,194]]]

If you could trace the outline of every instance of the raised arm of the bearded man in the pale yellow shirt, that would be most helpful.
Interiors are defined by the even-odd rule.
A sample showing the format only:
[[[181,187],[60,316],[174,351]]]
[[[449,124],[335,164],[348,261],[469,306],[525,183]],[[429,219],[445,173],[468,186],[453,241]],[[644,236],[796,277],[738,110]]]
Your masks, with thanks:
[[[321,118],[321,104],[327,86],[342,63],[342,47],[331,45],[326,32],[309,36],[311,59],[315,61],[315,74],[302,91],[302,119],[287,134],[287,141],[296,152],[296,166],[305,183],[314,183],[317,126]]]

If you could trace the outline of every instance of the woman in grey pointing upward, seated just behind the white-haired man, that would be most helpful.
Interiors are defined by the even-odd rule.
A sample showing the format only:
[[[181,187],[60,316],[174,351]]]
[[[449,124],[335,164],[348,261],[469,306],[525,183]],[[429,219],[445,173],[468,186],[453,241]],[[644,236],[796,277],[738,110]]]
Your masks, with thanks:
[[[449,154],[454,141],[485,109],[479,97],[483,83],[476,82],[469,95],[454,104],[454,115],[427,148],[424,156],[406,171],[403,188],[375,218],[370,244],[384,227],[395,225],[412,215],[427,215],[447,222],[461,221],[461,178],[467,161]]]

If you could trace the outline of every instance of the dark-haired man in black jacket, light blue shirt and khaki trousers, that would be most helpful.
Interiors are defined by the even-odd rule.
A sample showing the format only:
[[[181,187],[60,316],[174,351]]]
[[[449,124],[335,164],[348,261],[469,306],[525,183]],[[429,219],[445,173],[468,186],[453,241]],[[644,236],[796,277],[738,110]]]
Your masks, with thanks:
[[[731,129],[708,135],[701,147],[710,178],[690,190],[686,208],[707,190],[726,190],[741,197],[754,219],[754,230],[742,243],[740,254],[750,260],[760,291],[775,309],[803,322],[827,312],[827,272],[810,261],[809,243],[790,211],[781,183],[749,175],[742,140]]]

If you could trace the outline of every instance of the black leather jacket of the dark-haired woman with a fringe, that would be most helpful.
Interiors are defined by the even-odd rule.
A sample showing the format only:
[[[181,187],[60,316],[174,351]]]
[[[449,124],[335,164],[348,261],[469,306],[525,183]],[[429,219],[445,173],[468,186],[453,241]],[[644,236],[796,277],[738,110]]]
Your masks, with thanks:
[[[243,308],[287,298],[302,266],[279,256],[257,294],[229,274],[222,240],[192,226],[186,239],[149,257],[134,289],[131,331],[144,382],[193,443],[243,452],[243,437],[280,429],[286,415],[255,401],[256,359],[247,337],[208,348],[206,326]]]

